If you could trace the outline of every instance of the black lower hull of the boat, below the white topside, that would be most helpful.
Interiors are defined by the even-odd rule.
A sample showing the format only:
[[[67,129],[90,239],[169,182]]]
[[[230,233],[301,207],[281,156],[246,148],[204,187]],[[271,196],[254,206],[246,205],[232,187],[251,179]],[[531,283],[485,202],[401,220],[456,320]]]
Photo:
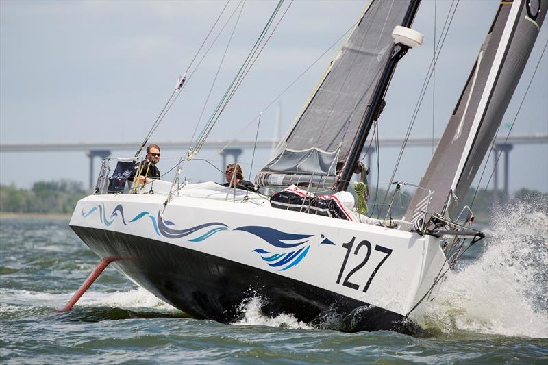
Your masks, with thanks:
[[[253,266],[130,234],[71,228],[99,256],[122,257],[112,264],[127,277],[195,318],[230,323],[242,315],[242,303],[260,296],[265,314],[292,314],[318,327],[415,331],[402,325],[401,314]]]

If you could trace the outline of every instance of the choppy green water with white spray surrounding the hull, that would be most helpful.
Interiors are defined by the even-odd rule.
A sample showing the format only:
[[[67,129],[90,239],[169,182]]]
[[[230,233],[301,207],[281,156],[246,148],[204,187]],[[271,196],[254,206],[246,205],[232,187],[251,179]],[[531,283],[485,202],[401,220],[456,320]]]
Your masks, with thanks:
[[[436,302],[416,314],[428,329],[422,337],[313,329],[264,316],[260,299],[239,323],[195,320],[112,268],[59,314],[99,257],[68,221],[2,219],[1,362],[547,364],[548,219],[530,219],[526,231],[494,234],[510,244],[473,248]]]

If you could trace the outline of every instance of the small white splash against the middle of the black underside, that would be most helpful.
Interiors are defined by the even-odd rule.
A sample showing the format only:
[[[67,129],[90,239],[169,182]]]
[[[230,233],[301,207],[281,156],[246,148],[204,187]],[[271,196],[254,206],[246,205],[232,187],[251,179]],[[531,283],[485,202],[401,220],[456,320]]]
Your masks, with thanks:
[[[281,327],[286,329],[310,329],[306,323],[300,322],[290,314],[279,314],[271,317],[264,314],[261,310],[263,305],[262,297],[251,297],[240,305],[240,311],[243,316],[232,325],[251,325],[251,326],[268,326]]]

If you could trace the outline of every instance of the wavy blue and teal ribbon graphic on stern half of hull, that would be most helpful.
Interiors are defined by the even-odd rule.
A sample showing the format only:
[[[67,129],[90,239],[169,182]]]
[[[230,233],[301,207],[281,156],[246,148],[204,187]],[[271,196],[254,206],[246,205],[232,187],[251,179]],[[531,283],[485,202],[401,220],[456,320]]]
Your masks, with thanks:
[[[112,210],[112,213],[110,214],[110,218],[107,218],[104,203],[100,203],[96,207],[92,207],[90,210],[88,210],[88,212],[84,212],[84,210],[82,210],[82,217],[88,218],[88,216],[91,216],[94,212],[99,212],[99,221],[101,221],[101,223],[103,223],[103,225],[105,225],[106,227],[112,225],[112,223],[116,221],[116,218],[119,218],[123,225],[129,225],[129,223],[136,223],[140,221],[140,219],[143,217],[148,217],[152,223],[152,227],[156,235],[173,239],[183,238],[195,233],[199,234],[199,231],[201,231],[202,229],[208,227],[210,228],[208,229],[208,231],[206,231],[206,233],[199,234],[199,236],[189,239],[188,241],[190,242],[202,242],[203,240],[210,238],[217,232],[227,231],[229,229],[227,225],[220,222],[204,223],[202,225],[197,225],[195,227],[190,227],[187,229],[173,229],[168,226],[176,226],[175,223],[173,223],[173,221],[168,221],[167,219],[162,219],[162,217],[160,216],[160,210],[158,210],[158,214],[156,216],[153,216],[150,212],[146,210],[142,211],[136,214],[134,218],[130,219],[128,223],[125,220],[124,208],[121,204],[114,207],[114,210]]]

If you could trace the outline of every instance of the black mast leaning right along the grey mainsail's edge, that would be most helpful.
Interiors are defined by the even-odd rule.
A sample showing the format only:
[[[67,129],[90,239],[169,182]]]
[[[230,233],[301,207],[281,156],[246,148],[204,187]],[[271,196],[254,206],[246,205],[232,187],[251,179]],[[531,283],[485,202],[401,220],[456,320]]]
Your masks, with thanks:
[[[403,27],[411,27],[420,3],[421,0],[411,1],[406,15],[403,18],[403,22],[401,23]],[[379,77],[379,81],[377,82],[377,86],[375,86],[375,91],[371,96],[371,103],[369,103],[368,108],[364,113],[362,123],[358,129],[358,134],[356,134],[356,138],[350,149],[349,156],[346,159],[345,166],[343,167],[343,172],[340,174],[338,179],[336,191],[347,190],[352,174],[356,168],[356,164],[358,163],[358,159],[360,158],[360,153],[362,152],[367,136],[369,135],[369,131],[371,130],[371,126],[373,125],[373,121],[375,121],[375,118],[378,115],[379,107],[382,104],[382,98],[388,89],[388,84],[390,84],[390,79],[392,79],[396,64],[404,55],[406,55],[408,49],[410,49],[410,47],[403,45],[402,43],[397,43],[392,46],[390,59],[386,62],[384,70]]]

